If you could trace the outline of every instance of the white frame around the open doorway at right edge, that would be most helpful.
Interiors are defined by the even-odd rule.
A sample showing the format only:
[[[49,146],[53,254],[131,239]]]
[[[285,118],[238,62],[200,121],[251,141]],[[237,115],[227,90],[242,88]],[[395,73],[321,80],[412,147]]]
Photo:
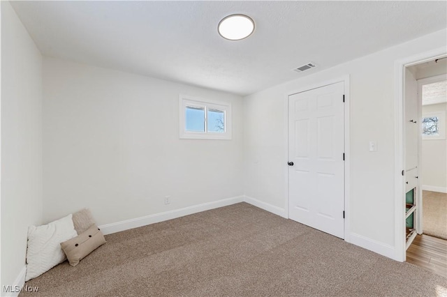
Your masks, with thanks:
[[[447,55],[445,47],[395,61],[395,257],[406,260],[405,247],[405,68]],[[418,152],[419,154],[420,152]],[[419,173],[420,175],[420,173]],[[419,186],[420,188],[420,186]],[[420,195],[418,195],[420,196]]]

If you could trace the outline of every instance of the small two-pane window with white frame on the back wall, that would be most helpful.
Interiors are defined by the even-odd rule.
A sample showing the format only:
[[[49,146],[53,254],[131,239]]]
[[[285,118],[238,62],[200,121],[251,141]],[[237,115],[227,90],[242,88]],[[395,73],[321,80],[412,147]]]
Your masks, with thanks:
[[[231,104],[179,96],[181,139],[231,139]]]

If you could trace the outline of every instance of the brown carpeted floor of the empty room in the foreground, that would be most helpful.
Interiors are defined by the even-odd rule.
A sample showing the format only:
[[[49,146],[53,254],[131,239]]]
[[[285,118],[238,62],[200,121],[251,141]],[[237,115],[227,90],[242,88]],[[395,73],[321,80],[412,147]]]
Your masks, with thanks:
[[[241,203],[106,236],[20,296],[446,296],[447,280]]]

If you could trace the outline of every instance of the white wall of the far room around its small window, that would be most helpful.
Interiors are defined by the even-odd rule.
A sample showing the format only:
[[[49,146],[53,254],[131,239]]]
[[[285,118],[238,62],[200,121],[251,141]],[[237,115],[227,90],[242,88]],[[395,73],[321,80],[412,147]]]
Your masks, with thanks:
[[[422,114],[430,112],[447,113],[447,103],[424,105]],[[447,189],[447,140],[434,139],[422,141],[422,185],[430,188]],[[425,186],[425,187],[424,187]],[[441,189],[439,189],[441,190]]]

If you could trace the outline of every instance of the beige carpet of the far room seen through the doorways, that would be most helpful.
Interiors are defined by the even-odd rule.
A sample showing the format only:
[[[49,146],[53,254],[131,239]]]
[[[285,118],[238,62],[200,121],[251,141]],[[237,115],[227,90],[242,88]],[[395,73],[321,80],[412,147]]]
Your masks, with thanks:
[[[447,239],[447,194],[423,191],[423,234]]]

